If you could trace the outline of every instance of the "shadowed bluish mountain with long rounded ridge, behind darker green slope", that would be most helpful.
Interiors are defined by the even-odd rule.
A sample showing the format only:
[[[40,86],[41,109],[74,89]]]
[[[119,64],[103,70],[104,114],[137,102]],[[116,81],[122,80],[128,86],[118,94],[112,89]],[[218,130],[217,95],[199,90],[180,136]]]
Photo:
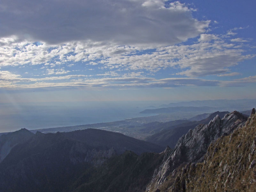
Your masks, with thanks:
[[[0,191],[70,191],[83,172],[126,149],[137,154],[161,151],[155,144],[97,129],[37,132],[15,145],[0,163]]]

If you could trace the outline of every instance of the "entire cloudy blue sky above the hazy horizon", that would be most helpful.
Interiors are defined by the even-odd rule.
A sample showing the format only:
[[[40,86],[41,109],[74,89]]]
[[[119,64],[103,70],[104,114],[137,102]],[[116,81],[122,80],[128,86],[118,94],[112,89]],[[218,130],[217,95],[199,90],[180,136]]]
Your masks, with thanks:
[[[2,0],[0,103],[255,99],[254,0]]]

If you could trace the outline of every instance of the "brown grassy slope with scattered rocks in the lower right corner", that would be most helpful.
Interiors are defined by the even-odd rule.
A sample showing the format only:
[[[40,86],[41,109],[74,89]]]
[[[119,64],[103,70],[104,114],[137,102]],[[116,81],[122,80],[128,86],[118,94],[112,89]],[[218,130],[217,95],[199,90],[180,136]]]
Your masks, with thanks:
[[[230,136],[209,146],[203,163],[189,163],[168,191],[254,191],[256,188],[256,115]]]

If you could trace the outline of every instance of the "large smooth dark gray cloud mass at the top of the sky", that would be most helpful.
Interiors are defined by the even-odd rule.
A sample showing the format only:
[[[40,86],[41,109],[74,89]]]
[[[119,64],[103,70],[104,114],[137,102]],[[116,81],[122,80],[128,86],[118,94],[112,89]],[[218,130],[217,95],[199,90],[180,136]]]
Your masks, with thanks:
[[[174,44],[198,36],[209,26],[210,21],[192,18],[189,12],[196,10],[187,4],[165,4],[164,0],[2,1],[0,36],[50,44],[86,39]]]

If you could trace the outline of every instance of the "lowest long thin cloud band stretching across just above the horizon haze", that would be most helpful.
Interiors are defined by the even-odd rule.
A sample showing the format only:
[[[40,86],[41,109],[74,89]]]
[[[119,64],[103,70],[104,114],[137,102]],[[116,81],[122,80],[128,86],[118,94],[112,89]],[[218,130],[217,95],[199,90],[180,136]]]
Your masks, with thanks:
[[[111,74],[111,73],[110,73]],[[123,77],[92,78],[91,75],[66,75],[44,78],[22,78],[9,71],[0,71],[0,87],[5,88],[43,88],[43,87],[98,87],[98,88],[171,88],[184,86],[246,86],[256,83],[256,76],[235,79],[232,81],[205,80],[200,78],[164,78],[156,79],[139,74],[128,74]],[[223,76],[239,75],[238,73],[222,74]],[[111,76],[111,75],[110,75]]]

